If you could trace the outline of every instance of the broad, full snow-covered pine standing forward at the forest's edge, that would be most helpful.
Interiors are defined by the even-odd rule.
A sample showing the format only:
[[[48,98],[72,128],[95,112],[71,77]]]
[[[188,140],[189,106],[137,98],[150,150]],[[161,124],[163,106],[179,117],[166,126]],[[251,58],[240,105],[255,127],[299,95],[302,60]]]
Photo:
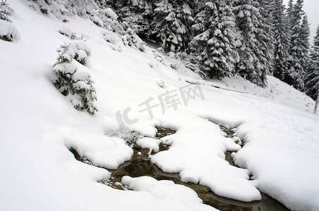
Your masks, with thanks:
[[[201,70],[211,78],[230,77],[238,54],[234,14],[225,0],[208,1],[196,15],[194,30],[198,35],[189,44]]]

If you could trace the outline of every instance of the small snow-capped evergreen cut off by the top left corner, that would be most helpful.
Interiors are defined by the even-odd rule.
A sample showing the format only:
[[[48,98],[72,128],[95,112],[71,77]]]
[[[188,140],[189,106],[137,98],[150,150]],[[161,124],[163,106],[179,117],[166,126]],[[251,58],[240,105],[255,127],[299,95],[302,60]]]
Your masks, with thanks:
[[[0,39],[13,41],[20,39],[17,28],[12,24],[10,16],[12,9],[6,4],[6,1],[0,2]]]

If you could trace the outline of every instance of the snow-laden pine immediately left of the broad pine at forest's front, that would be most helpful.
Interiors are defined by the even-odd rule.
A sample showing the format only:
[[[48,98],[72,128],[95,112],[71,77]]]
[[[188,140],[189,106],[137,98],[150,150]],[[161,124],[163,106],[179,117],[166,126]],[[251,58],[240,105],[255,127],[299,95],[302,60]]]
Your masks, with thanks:
[[[186,49],[189,26],[192,24],[192,11],[186,1],[163,0],[156,4],[152,23],[153,34],[164,43],[164,50]]]

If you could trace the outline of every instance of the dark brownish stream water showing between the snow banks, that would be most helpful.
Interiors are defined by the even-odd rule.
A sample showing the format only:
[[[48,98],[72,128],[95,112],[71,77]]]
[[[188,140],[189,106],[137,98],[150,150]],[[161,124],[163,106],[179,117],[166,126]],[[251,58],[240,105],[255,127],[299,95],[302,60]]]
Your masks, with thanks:
[[[230,129],[225,129],[224,127],[220,127],[224,132],[228,134],[228,136],[232,136],[232,131]],[[175,131],[166,129],[163,127],[157,127],[158,134],[156,134],[156,138],[161,139],[163,136],[174,134]],[[171,180],[174,181],[175,184],[182,184],[189,188],[192,188],[198,194],[199,198],[203,200],[204,204],[211,205],[212,207],[217,208],[218,210],[288,210],[287,207],[284,207],[277,200],[261,193],[262,199],[259,201],[244,203],[238,200],[232,200],[229,198],[224,198],[215,195],[210,188],[207,186],[201,186],[199,184],[193,183],[184,183],[180,181],[179,174],[171,174],[165,173],[156,165],[151,163],[151,159],[148,158],[147,153],[149,149],[140,148],[135,144],[133,147],[134,155],[132,156],[130,161],[127,161],[118,167],[118,170],[109,170],[111,172],[111,179],[108,181],[100,181],[103,184],[108,186],[112,186],[113,188],[118,188],[120,190],[125,190],[126,188],[120,184],[123,176],[130,177],[142,177],[149,176],[154,177],[157,180]],[[160,145],[160,151],[168,150],[168,146]],[[85,158],[80,158],[80,156],[74,151],[72,148],[70,150],[77,160],[81,160],[82,162],[87,160]],[[139,153],[139,155],[138,155]],[[142,155],[140,155],[142,153]],[[230,162],[230,165],[234,165],[231,154],[232,152],[227,151],[225,153],[226,160]]]

